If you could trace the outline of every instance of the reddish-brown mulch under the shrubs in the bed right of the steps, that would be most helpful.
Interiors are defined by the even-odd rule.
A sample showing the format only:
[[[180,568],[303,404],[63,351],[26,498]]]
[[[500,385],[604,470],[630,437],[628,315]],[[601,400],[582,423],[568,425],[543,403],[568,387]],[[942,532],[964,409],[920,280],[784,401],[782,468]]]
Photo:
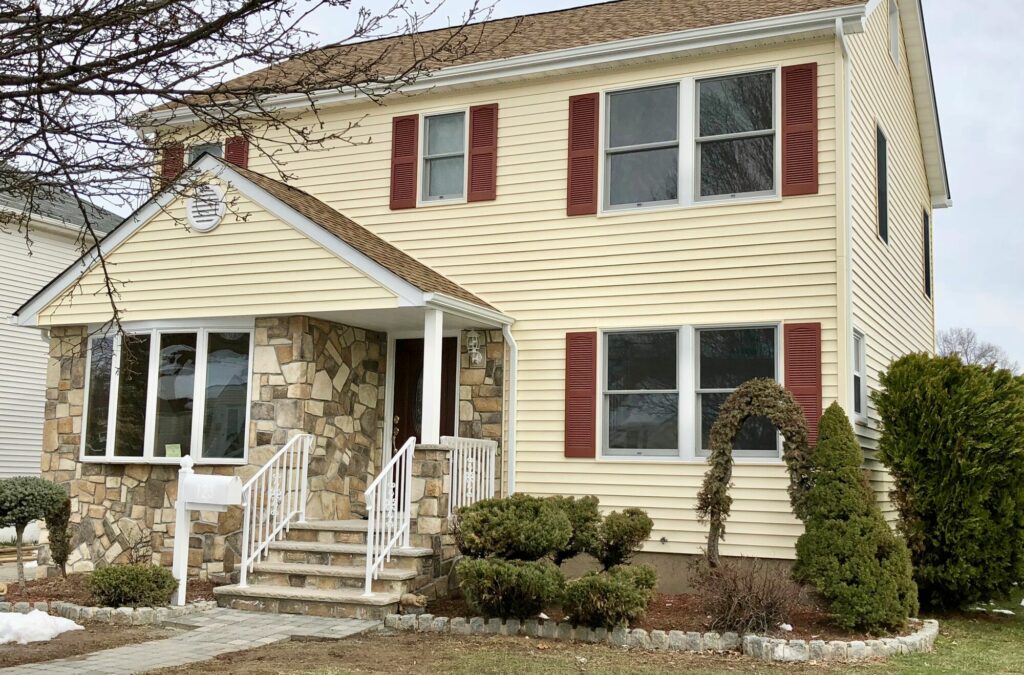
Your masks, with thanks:
[[[461,597],[447,597],[432,600],[427,604],[427,611],[437,617],[472,617],[474,616]],[[557,607],[545,610],[548,618],[561,621],[565,615]],[[696,597],[690,594],[668,595],[657,593],[647,605],[647,615],[632,628],[662,631],[693,631],[708,632],[708,617],[699,613]],[[863,640],[869,636],[863,633],[846,631],[835,626],[826,614],[807,606],[795,611],[788,623],[792,631],[775,630],[768,635],[790,640]]]

